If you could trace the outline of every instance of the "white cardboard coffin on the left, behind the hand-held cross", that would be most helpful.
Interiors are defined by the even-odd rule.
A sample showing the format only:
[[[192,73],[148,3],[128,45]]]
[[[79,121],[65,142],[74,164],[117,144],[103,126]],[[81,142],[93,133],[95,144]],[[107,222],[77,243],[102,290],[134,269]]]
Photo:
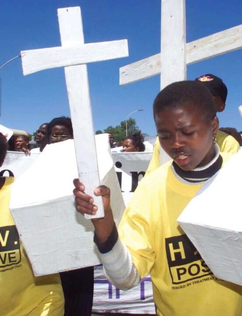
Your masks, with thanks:
[[[96,148],[118,225],[125,206],[107,134],[96,136]],[[36,276],[100,264],[92,222],[75,210],[77,177],[74,142],[68,140],[47,146],[12,185],[10,209]]]

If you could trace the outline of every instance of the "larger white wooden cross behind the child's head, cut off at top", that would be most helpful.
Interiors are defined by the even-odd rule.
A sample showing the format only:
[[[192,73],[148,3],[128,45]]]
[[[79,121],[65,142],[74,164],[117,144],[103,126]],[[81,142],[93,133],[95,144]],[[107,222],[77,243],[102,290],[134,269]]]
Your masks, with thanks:
[[[242,25],[186,43],[185,0],[161,0],[161,53],[119,69],[125,85],[160,74],[160,89],[186,80],[186,65],[242,48]],[[160,164],[170,160],[160,146]]]

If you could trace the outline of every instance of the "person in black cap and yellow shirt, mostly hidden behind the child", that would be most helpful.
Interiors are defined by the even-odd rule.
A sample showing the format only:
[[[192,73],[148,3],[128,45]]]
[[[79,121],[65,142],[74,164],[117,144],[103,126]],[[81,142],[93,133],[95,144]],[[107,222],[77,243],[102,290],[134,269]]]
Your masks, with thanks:
[[[196,78],[195,81],[200,81],[209,88],[213,96],[217,112],[222,112],[225,109],[225,101],[227,98],[227,87],[223,83],[222,79],[212,74],[206,74]],[[218,130],[216,134],[216,142],[219,145],[221,152],[235,154],[240,148],[239,143],[233,136],[220,130]],[[160,167],[159,137],[156,138],[153,155],[145,174],[147,175],[158,167]]]

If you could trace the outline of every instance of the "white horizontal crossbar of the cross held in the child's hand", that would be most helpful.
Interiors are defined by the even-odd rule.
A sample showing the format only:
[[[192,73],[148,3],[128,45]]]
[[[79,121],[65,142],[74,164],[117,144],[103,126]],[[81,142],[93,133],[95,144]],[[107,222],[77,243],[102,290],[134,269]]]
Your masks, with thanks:
[[[87,64],[127,56],[127,40],[82,45],[73,44],[73,46],[21,52],[24,75],[50,68]]]

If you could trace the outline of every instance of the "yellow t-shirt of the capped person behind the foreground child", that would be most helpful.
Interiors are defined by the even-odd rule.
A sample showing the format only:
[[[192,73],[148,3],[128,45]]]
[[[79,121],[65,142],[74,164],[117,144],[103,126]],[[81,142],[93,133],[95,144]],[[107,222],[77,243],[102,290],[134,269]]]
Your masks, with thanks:
[[[230,153],[236,154],[239,151],[239,143],[237,140],[227,133],[218,130],[216,135],[216,142],[220,147],[220,151],[223,153]],[[148,165],[148,169],[146,170],[145,175],[147,176],[148,173],[151,173],[153,170],[160,167],[160,141],[159,137],[156,137],[153,155]]]

